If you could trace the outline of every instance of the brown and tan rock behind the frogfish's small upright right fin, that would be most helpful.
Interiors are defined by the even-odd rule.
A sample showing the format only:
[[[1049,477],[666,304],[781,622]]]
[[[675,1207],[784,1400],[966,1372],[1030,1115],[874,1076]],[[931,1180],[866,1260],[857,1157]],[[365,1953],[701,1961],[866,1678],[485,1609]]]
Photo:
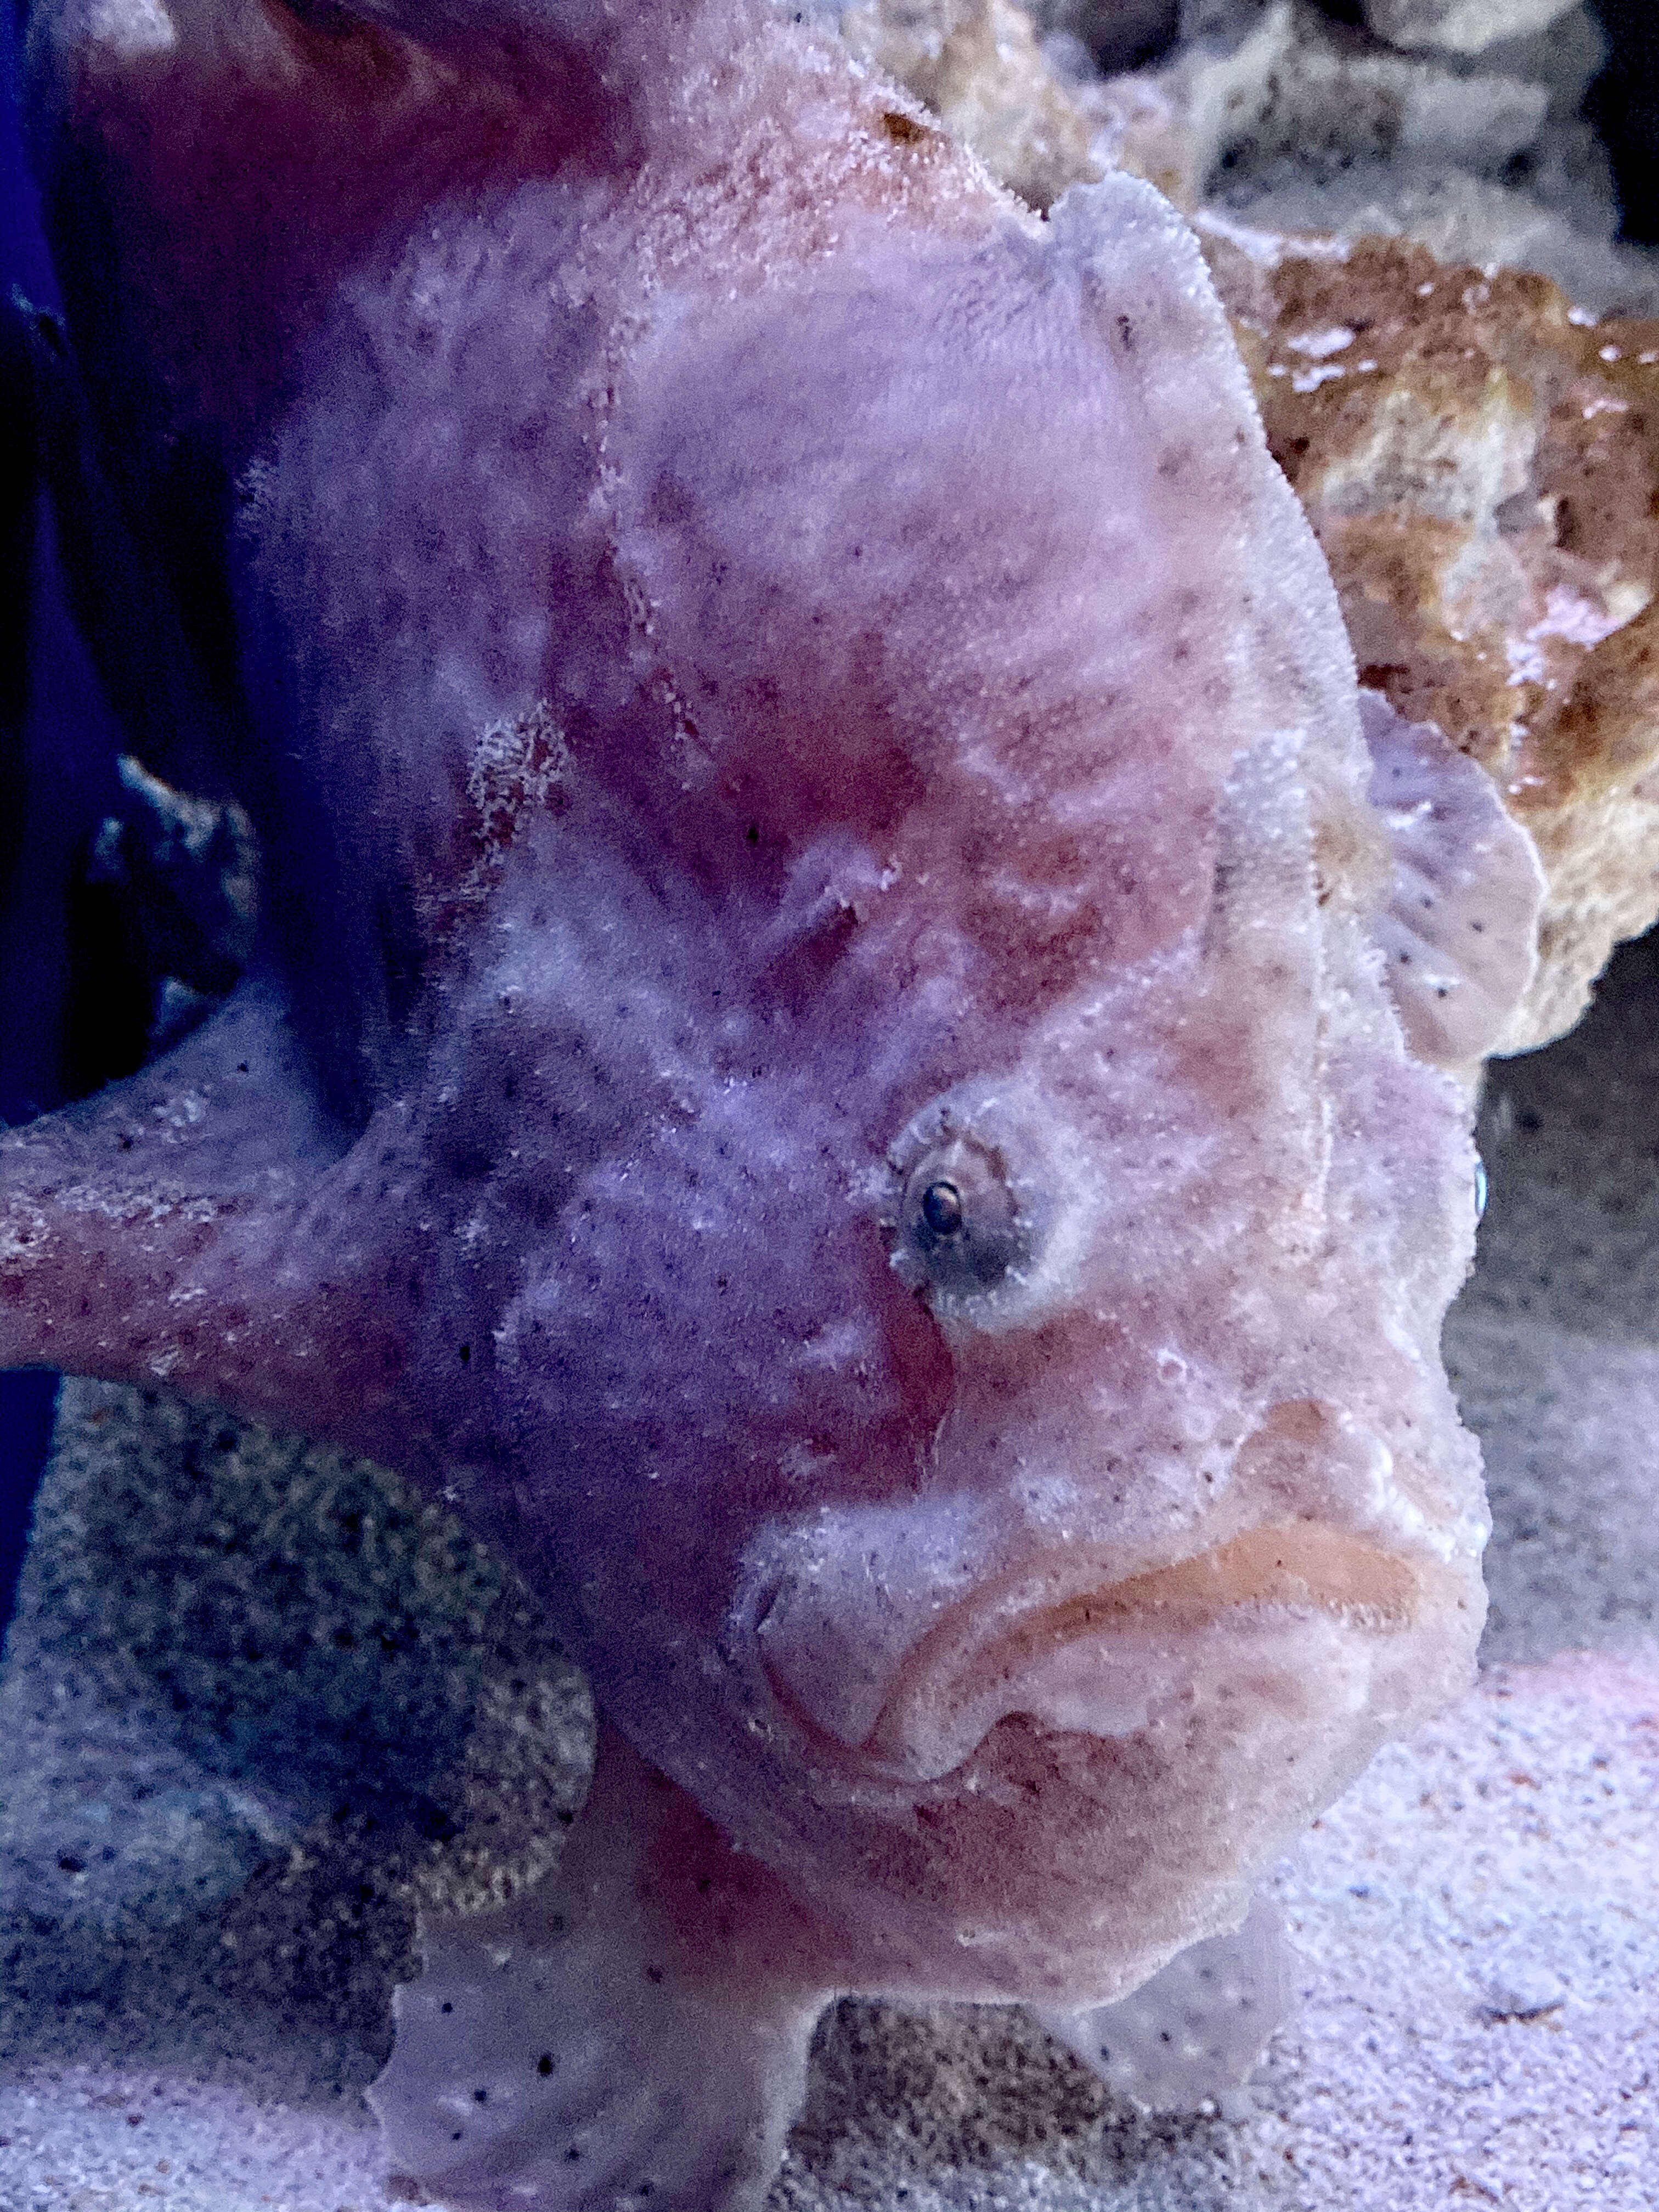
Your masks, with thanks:
[[[1540,845],[1540,975],[1502,1048],[1542,1044],[1659,914],[1659,323],[1400,239],[1201,230],[1360,679]]]

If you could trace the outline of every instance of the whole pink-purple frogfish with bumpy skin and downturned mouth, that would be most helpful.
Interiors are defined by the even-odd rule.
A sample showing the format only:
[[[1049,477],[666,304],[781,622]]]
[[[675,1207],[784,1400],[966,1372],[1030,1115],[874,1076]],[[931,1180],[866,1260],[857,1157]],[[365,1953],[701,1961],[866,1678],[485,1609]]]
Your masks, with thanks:
[[[1037,223],[801,29],[58,0],[31,64],[157,564],[181,451],[237,489],[190,739],[270,925],[0,1146],[0,1349],[529,1568],[619,1734],[500,1958],[584,2055],[538,2119],[411,2000],[383,2108],[478,2201],[734,2201],[825,1993],[1108,2004],[1469,1677],[1473,1155],[1332,586],[1157,195]],[[706,2154],[679,2077],[602,2126],[697,2006]]]

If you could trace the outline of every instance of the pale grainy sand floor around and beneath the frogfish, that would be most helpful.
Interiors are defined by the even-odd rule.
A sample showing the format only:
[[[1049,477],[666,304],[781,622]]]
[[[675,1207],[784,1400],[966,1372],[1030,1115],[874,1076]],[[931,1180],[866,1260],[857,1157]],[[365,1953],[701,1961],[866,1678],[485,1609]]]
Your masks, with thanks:
[[[1648,942],[1493,1071],[1447,1329],[1489,1455],[1489,1670],[1281,1869],[1298,2006],[1250,2088],[1148,2121],[1020,2013],[843,2004],[779,2212],[1659,2201],[1655,1102]],[[535,1871],[511,1807],[557,1829],[586,1730],[442,1515],[75,1387],[0,1681],[0,2208],[380,2212],[361,2093],[414,1898]]]

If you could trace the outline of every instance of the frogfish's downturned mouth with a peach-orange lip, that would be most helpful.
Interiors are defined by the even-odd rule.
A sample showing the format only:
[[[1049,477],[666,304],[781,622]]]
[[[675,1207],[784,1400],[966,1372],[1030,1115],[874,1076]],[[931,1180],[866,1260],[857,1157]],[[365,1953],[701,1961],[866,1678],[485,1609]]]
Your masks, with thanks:
[[[960,1597],[902,1655],[860,1743],[825,1732],[801,1683],[768,1663],[772,1688],[838,1759],[936,1781],[1015,1712],[1126,1736],[1199,1677],[1294,1679],[1310,1630],[1398,1637],[1447,1573],[1318,1522],[1250,1528],[1119,1579],[1102,1568],[1086,1551],[1051,1553]]]

